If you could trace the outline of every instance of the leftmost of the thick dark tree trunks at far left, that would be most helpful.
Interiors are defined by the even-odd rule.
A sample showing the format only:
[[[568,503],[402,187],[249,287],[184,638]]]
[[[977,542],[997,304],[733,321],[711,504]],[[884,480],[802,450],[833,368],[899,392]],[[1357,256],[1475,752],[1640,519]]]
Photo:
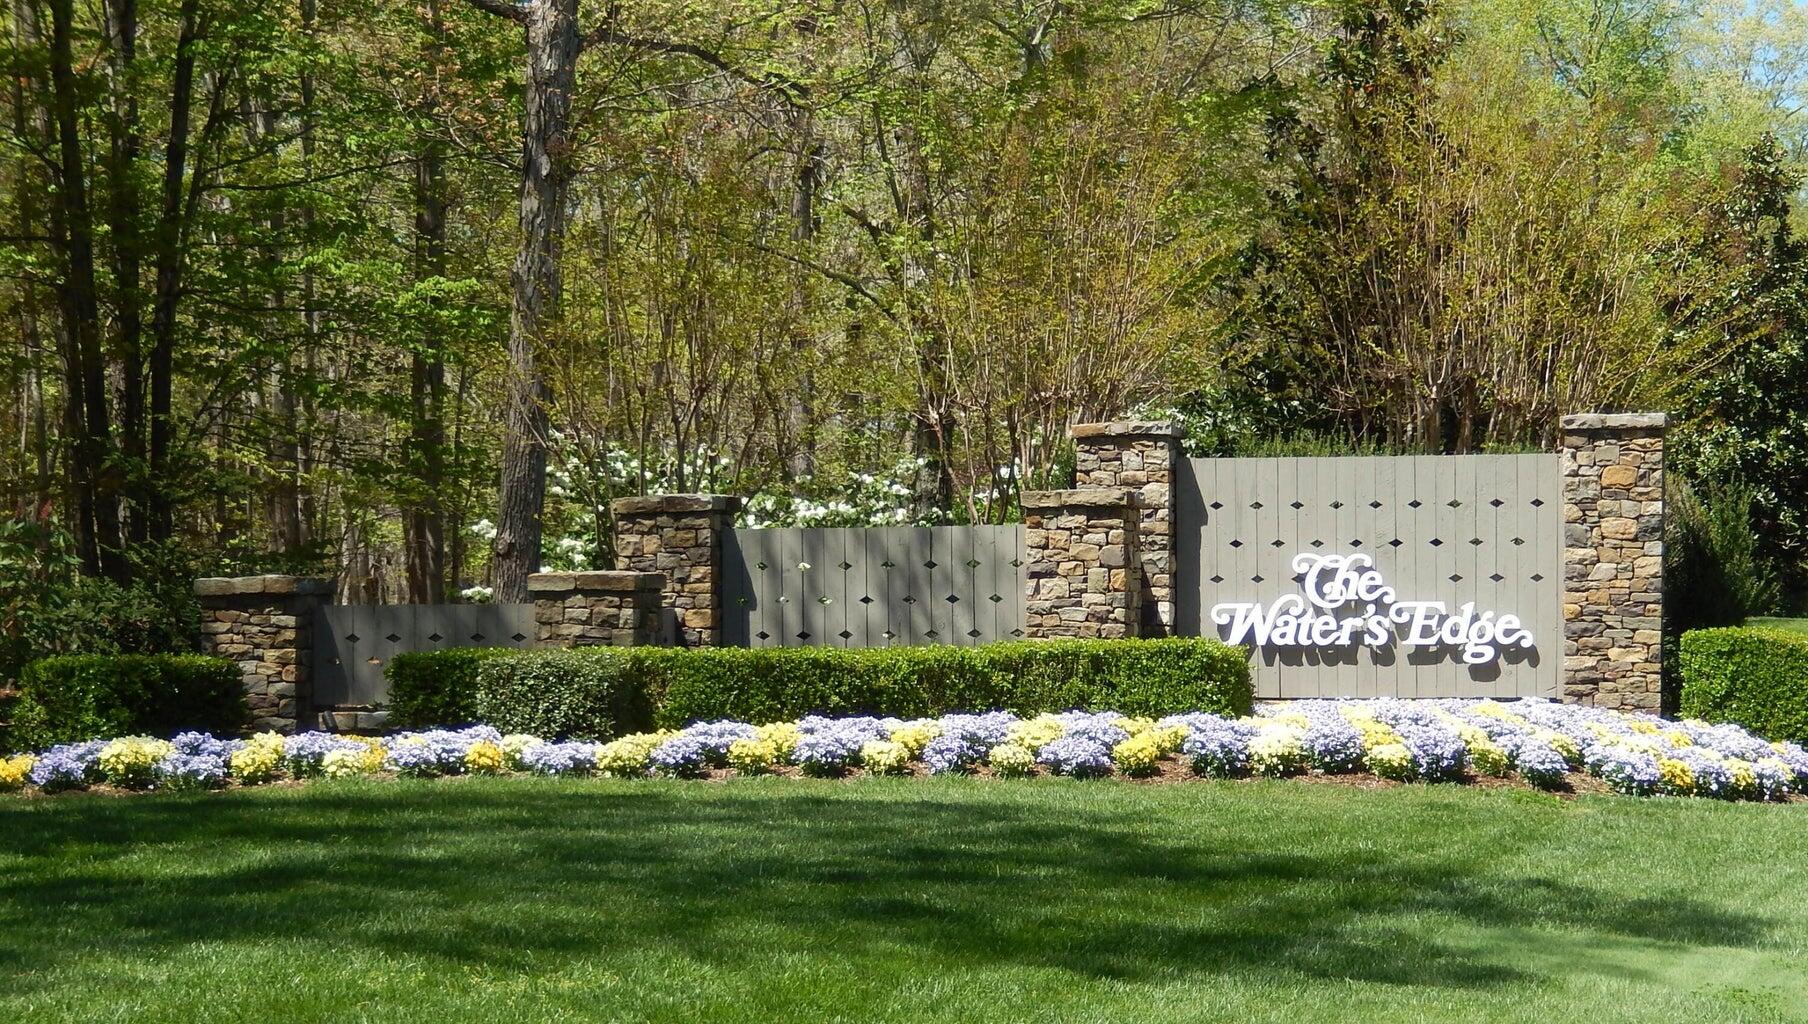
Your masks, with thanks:
[[[63,248],[63,320],[67,322],[67,375],[80,394],[80,434],[72,469],[80,505],[81,557],[85,568],[125,579],[119,537],[118,467],[112,465],[112,418],[107,409],[107,362],[101,351],[99,299],[94,284],[94,215],[89,208],[85,154],[78,127],[74,71],[74,2],[51,0],[51,94],[58,150],[58,226]]]

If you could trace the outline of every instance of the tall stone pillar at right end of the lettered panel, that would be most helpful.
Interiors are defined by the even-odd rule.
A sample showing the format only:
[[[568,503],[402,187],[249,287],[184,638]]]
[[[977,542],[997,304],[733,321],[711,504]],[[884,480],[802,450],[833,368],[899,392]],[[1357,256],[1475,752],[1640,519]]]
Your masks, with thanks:
[[[1663,702],[1662,412],[1564,416],[1564,700]]]

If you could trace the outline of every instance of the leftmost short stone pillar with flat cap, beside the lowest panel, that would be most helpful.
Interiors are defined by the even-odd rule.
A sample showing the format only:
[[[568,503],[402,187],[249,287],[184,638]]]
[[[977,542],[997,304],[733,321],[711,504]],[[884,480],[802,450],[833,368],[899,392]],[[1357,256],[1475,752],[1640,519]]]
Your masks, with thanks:
[[[315,725],[315,610],[333,599],[331,579],[297,575],[195,581],[201,651],[239,662],[251,725],[295,733]]]

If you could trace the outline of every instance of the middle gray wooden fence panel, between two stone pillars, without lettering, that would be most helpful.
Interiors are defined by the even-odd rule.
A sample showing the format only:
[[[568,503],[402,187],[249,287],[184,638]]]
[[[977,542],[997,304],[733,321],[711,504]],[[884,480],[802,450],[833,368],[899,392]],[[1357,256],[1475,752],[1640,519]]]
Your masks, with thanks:
[[[1023,635],[1022,526],[730,530],[723,640],[984,644]]]

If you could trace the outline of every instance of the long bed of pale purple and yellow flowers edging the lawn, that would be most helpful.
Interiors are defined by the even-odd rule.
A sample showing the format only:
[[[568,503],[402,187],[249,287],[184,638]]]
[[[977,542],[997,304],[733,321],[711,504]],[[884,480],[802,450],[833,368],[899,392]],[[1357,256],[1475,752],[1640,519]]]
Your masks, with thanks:
[[[1667,722],[1539,700],[1304,700],[1251,718],[1125,718],[1005,711],[940,718],[824,718],[750,725],[700,722],[607,744],[501,735],[488,725],[385,738],[262,733],[222,740],[125,736],[0,760],[0,789],[43,792],[217,789],[360,774],[709,774],[1206,778],[1361,774],[1403,782],[1519,778],[1560,787],[1586,773],[1634,796],[1784,800],[1808,792],[1808,753],[1737,725]]]

